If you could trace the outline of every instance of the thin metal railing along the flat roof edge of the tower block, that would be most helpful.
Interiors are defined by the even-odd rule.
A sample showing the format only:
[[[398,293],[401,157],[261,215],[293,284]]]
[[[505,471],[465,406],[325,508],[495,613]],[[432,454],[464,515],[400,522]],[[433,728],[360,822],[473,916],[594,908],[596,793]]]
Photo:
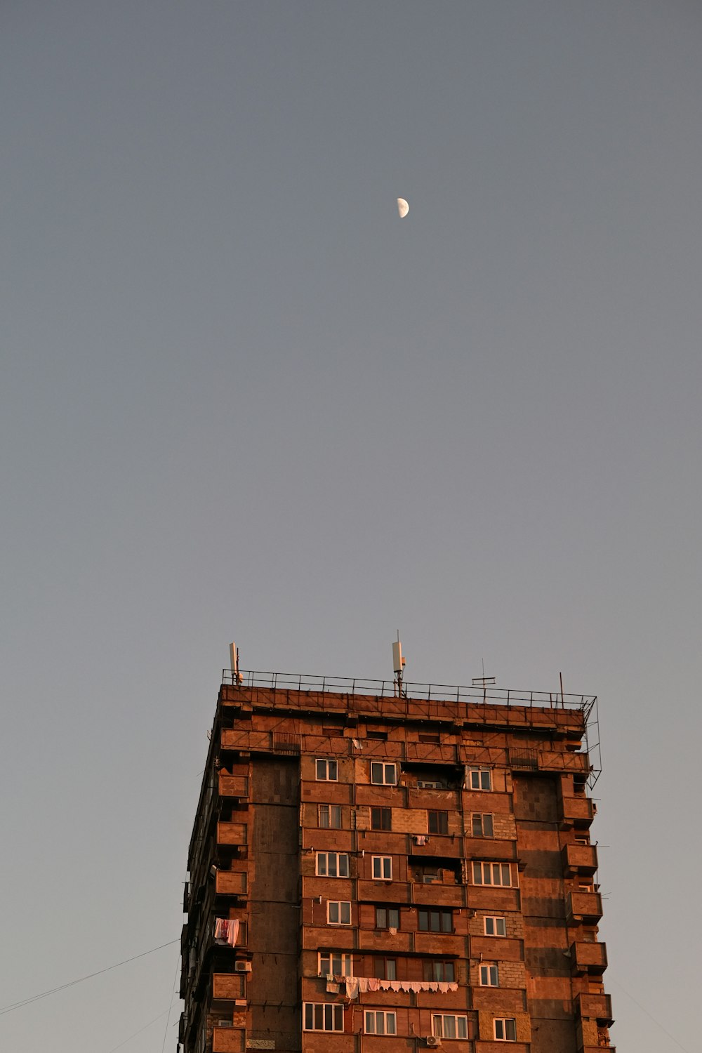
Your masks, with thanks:
[[[398,698],[395,680],[366,680],[358,677],[315,676],[307,673],[265,673],[254,670],[222,670],[222,683],[234,688],[262,688],[267,691],[309,691],[318,694],[370,695]],[[454,687],[446,683],[402,684],[402,698],[464,704],[538,707],[581,710],[587,716],[597,701],[595,695],[564,695],[559,691],[520,691],[509,688]]]

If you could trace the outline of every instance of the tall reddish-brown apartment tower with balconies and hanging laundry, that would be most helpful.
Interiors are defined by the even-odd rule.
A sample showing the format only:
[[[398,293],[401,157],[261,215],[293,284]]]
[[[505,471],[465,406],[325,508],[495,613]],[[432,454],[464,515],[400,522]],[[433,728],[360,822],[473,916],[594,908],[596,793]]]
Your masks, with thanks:
[[[609,1046],[591,697],[225,671],[184,1053]]]

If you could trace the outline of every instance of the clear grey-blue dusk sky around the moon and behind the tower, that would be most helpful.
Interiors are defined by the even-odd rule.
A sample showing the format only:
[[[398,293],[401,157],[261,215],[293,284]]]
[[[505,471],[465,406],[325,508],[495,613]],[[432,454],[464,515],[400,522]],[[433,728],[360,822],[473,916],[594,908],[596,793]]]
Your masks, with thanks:
[[[598,696],[611,1040],[698,1049],[701,46],[695,0],[4,0],[3,1049],[173,1053],[229,641],[387,678],[398,631]]]

